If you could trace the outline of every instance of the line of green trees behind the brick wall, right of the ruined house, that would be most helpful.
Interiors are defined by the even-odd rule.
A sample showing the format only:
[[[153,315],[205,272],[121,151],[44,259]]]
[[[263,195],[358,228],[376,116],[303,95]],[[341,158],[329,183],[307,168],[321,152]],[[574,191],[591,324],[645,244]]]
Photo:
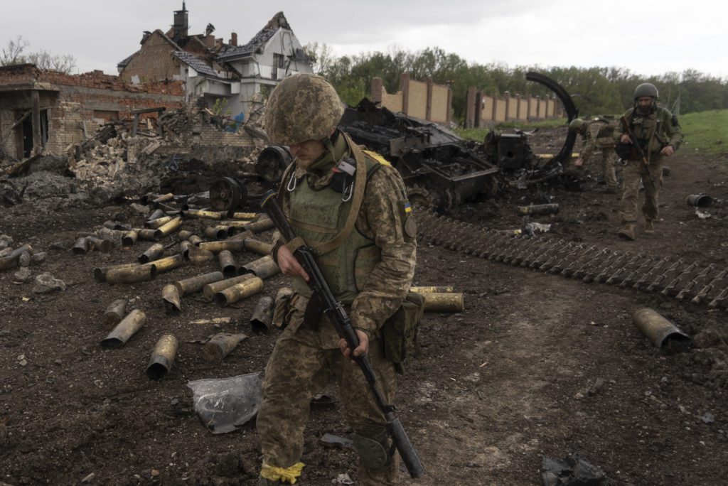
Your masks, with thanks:
[[[439,47],[417,52],[390,49],[389,52],[363,52],[336,57],[326,44],[306,44],[307,54],[314,58],[314,72],[325,76],[339,92],[341,99],[356,105],[369,96],[373,77],[383,80],[387,92],[397,92],[400,73],[424,81],[431,77],[438,84],[452,88],[455,120],[465,117],[467,89],[476,87],[486,95],[553,96],[540,84],[526,81],[526,73],[537,71],[561,84],[571,94],[581,115],[617,114],[633,103],[635,87],[650,82],[660,91],[660,103],[666,108],[679,108],[679,113],[728,108],[728,79],[720,79],[687,69],[659,76],[641,76],[626,68],[579,68],[525,65],[510,67],[503,63],[468,63],[459,55]],[[677,103],[677,104],[676,104]]]

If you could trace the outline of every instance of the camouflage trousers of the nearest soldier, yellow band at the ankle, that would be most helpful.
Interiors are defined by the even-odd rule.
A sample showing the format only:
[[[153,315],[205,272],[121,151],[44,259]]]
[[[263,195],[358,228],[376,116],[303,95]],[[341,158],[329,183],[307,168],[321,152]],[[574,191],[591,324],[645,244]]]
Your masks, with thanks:
[[[287,327],[278,338],[266,367],[263,402],[256,426],[266,463],[287,468],[297,463],[304,450],[304,428],[311,399],[330,378],[336,378],[344,416],[355,434],[389,444],[386,423],[358,365],[341,351],[321,346],[320,330],[305,325]],[[395,395],[395,367],[384,358],[381,340],[371,338],[371,362],[384,401]],[[393,485],[399,463],[395,454],[387,466],[376,471],[359,463],[361,485]]]

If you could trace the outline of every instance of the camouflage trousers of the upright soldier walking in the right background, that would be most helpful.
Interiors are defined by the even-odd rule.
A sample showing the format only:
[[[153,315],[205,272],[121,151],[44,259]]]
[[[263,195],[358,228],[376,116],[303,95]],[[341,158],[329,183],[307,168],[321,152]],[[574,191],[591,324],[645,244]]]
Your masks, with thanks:
[[[654,186],[648,177],[648,167]],[[640,161],[630,160],[622,170],[622,177],[624,178],[622,181],[622,204],[620,206],[622,225],[637,223],[640,181],[644,186],[642,215],[646,220],[656,220],[659,215],[657,198],[660,196],[660,188],[662,188],[662,157],[652,160],[649,166],[645,166]]]

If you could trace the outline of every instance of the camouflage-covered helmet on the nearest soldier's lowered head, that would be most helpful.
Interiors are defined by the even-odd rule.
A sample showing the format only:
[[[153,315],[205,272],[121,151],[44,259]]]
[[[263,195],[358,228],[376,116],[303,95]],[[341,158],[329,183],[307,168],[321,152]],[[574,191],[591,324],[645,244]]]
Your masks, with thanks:
[[[343,114],[344,106],[328,81],[294,74],[273,89],[264,125],[271,143],[291,146],[328,137]]]

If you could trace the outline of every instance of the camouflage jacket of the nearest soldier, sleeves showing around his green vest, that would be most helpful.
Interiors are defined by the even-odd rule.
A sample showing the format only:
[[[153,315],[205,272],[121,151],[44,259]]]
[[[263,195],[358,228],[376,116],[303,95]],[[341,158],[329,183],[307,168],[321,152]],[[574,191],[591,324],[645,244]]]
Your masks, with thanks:
[[[334,156],[326,154],[323,159],[314,162],[308,171],[296,167],[296,183],[309,183],[314,188],[323,188],[331,183],[334,167],[333,160],[341,161],[349,156],[350,148],[343,135],[339,135],[334,143]],[[377,160],[369,154],[365,156],[381,164],[384,159]],[[294,163],[296,163],[294,161]],[[290,198],[286,196],[288,180],[282,181],[282,208],[290,213]],[[414,276],[416,259],[416,229],[411,212],[405,214],[402,202],[406,199],[405,186],[400,173],[389,165],[381,164],[379,170],[369,176],[364,199],[357,216],[355,230],[381,250],[381,260],[376,263],[363,288],[352,303],[349,318],[355,329],[363,330],[368,335],[377,334],[384,321],[392,316],[407,294]],[[408,222],[409,221],[409,222]],[[280,236],[274,235],[273,256],[277,258]],[[291,302],[298,311],[306,307],[308,299],[296,295]],[[300,326],[301,322],[290,322],[288,326]],[[338,348],[339,335],[333,325],[324,316],[320,325],[323,348]]]

